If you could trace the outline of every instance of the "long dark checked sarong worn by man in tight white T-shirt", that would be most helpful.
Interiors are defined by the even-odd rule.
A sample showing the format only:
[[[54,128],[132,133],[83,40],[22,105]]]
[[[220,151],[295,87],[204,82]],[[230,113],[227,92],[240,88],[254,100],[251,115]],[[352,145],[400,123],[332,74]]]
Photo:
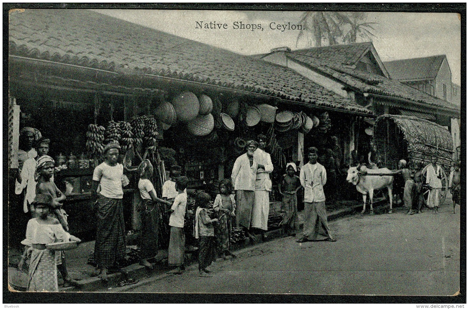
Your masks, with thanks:
[[[99,267],[113,266],[125,258],[122,199],[99,195],[94,259]]]

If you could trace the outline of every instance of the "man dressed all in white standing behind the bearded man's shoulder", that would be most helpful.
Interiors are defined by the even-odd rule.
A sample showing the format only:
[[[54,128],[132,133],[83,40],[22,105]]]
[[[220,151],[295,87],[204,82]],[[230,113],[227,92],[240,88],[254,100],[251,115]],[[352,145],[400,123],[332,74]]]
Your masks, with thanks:
[[[257,161],[257,171],[251,226],[267,231],[270,206],[269,192],[272,191],[272,181],[269,174],[273,171],[273,165],[270,154],[265,151],[267,137],[259,134],[257,136],[257,143],[259,143],[259,146],[254,152],[254,157]]]

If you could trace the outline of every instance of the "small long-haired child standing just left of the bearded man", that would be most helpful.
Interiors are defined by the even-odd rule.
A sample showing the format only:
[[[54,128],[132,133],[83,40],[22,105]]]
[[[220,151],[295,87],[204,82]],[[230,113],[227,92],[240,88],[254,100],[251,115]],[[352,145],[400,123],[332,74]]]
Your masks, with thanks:
[[[234,194],[230,194],[231,182],[229,180],[220,181],[219,190],[220,194],[215,197],[215,202],[213,202],[213,210],[218,212],[219,222],[215,227],[215,241],[218,254],[223,259],[227,259],[227,255],[236,257],[229,251],[232,218],[235,216],[236,202],[234,201]]]

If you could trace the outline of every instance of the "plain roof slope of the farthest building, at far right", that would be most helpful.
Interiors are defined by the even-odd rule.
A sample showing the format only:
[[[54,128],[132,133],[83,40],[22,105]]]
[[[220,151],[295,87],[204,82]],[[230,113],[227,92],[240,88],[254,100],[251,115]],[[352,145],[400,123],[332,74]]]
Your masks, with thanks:
[[[384,62],[392,79],[398,81],[418,81],[434,79],[445,59],[445,55],[394,60]]]

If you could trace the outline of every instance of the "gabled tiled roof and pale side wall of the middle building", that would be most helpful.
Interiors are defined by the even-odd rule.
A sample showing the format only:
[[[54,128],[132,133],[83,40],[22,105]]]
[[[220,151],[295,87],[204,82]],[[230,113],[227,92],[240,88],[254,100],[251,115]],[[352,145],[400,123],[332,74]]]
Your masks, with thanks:
[[[459,106],[389,78],[371,42],[296,51],[283,47],[255,57],[292,68],[377,115],[416,116],[448,128],[451,119],[461,117]]]

